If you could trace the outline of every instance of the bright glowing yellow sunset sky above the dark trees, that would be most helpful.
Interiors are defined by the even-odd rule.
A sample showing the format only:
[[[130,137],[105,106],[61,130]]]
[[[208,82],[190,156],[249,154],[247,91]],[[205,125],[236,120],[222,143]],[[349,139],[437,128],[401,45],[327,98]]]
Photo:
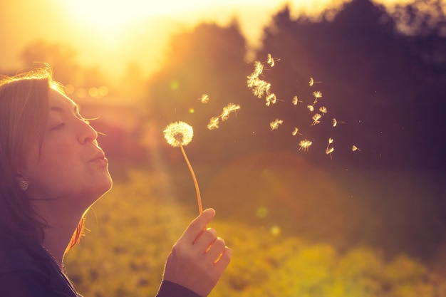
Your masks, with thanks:
[[[0,71],[21,66],[24,46],[45,40],[68,43],[83,66],[123,71],[128,63],[145,73],[162,65],[170,33],[202,21],[225,26],[234,17],[250,48],[259,44],[271,15],[289,4],[292,16],[317,17],[348,0],[0,0]],[[392,5],[405,0],[380,0]],[[17,69],[18,70],[18,69]]]

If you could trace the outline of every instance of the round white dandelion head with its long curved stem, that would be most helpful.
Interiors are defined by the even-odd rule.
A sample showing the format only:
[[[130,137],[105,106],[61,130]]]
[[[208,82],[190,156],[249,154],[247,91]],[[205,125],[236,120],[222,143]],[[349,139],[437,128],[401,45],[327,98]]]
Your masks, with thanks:
[[[184,149],[185,145],[188,145],[192,141],[192,137],[194,137],[194,130],[191,125],[188,125],[185,122],[178,121],[175,123],[170,123],[165,127],[165,130],[162,131],[164,133],[165,140],[172,147],[180,147],[182,155],[185,157],[187,167],[189,167],[190,174],[192,175],[192,179],[195,184],[195,191],[197,192],[197,202],[198,202],[198,210],[201,214],[203,212],[202,207],[202,198],[199,194],[199,187],[197,182],[197,177],[195,177],[194,170],[192,169],[192,165],[190,165],[189,159],[187,159],[187,155]]]

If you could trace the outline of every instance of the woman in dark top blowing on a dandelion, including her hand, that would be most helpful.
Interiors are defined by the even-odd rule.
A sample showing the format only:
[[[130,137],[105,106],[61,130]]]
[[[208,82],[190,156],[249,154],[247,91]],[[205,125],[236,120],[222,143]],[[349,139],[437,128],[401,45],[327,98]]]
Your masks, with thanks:
[[[97,132],[49,68],[0,80],[0,296],[79,296],[63,255],[111,185]],[[207,209],[173,246],[157,296],[207,296],[231,251]]]

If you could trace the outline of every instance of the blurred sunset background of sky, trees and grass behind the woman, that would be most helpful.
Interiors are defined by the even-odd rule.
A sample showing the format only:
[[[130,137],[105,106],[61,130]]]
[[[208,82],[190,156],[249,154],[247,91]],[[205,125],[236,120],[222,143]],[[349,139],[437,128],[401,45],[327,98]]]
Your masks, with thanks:
[[[66,259],[84,296],[155,295],[197,215],[177,120],[234,254],[211,296],[446,296],[444,0],[0,0],[0,43],[0,73],[49,63],[103,133],[115,185]]]

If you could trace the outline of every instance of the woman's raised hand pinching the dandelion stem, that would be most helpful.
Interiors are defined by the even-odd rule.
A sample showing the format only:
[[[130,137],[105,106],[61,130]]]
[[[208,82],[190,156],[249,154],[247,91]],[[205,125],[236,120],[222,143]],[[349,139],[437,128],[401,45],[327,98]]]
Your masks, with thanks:
[[[163,279],[199,296],[212,291],[231,260],[231,250],[217,237],[217,231],[206,229],[214,216],[214,209],[206,209],[190,223],[172,247],[164,271]]]

